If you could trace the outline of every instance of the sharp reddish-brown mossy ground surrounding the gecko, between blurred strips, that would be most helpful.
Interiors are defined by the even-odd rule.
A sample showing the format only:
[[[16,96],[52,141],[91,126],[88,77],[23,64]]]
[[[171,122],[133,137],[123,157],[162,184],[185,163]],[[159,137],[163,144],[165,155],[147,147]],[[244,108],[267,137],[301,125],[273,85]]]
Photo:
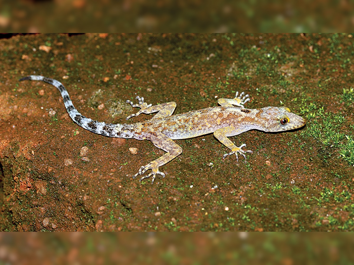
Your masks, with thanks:
[[[354,230],[352,35],[38,34],[0,51],[1,231]],[[151,118],[125,120],[136,95],[182,113],[245,91],[246,107],[287,106],[307,125],[230,137],[253,151],[238,163],[212,134],[176,140],[166,177],[139,182],[164,151],[82,129],[28,75],[106,123]]]

